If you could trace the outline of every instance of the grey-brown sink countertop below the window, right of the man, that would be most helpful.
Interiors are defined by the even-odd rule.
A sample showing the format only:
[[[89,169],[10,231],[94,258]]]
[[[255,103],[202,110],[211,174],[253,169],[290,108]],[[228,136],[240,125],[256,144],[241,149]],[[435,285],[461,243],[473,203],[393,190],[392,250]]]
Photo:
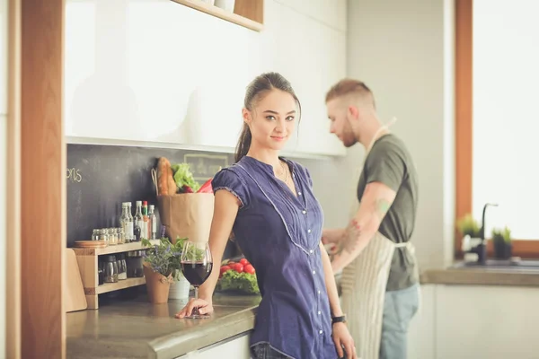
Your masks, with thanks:
[[[448,267],[426,269],[422,285],[517,285],[539,286],[539,270],[519,267]]]

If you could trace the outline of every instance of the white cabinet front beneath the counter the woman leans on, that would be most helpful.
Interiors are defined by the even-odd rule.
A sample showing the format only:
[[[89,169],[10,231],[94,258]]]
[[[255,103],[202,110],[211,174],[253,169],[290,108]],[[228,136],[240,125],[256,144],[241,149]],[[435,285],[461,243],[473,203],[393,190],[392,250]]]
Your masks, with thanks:
[[[249,335],[244,334],[206,349],[181,355],[178,359],[250,359]]]

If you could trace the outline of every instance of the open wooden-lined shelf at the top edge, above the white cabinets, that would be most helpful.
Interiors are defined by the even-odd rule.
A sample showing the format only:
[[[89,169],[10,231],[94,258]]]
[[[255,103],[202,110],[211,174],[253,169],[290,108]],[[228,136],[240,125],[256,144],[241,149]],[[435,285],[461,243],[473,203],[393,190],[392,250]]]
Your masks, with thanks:
[[[264,28],[264,0],[235,0],[234,13],[228,13],[215,5],[202,0],[171,0],[183,4],[203,13],[209,13],[227,22],[234,22],[240,26],[254,31]]]

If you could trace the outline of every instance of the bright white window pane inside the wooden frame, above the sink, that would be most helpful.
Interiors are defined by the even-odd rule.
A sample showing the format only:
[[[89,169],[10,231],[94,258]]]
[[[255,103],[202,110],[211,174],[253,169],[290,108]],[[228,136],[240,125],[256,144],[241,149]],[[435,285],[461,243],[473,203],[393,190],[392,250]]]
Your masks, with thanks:
[[[539,239],[539,2],[473,0],[472,207]]]

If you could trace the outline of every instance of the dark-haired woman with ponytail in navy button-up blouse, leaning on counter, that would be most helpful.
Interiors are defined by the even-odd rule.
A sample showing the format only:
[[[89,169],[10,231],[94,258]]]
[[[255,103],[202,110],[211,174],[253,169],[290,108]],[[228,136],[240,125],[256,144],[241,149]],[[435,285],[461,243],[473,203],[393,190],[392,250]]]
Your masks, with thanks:
[[[219,171],[212,187],[215,209],[209,247],[221,263],[226,241],[235,241],[256,269],[261,303],[251,335],[255,359],[356,359],[330,258],[322,244],[323,212],[309,171],[279,157],[294,134],[301,106],[290,83],[277,73],[261,74],[247,87],[243,131],[234,165]],[[176,314],[213,312],[219,276],[213,268],[191,300]]]

